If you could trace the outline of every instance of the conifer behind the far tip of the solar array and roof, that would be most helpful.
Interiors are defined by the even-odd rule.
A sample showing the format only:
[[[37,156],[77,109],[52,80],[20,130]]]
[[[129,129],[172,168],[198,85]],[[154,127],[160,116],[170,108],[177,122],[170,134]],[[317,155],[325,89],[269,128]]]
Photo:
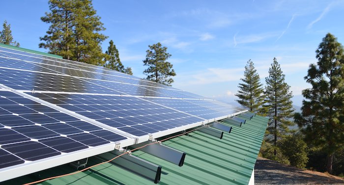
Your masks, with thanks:
[[[235,94],[239,98],[236,100],[242,106],[250,109],[251,112],[259,113],[264,103],[264,89],[260,83],[260,78],[255,69],[254,63],[250,59],[245,66],[244,83],[239,83],[238,93]]]

